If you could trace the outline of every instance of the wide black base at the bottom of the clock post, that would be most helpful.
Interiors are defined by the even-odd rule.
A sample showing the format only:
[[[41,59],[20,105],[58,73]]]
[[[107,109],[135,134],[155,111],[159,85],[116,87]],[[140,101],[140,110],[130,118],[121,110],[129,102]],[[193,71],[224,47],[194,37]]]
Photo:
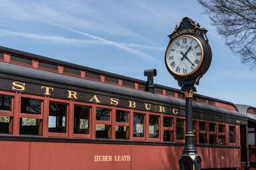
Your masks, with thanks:
[[[179,158],[179,170],[201,170],[201,161],[197,153],[183,153]]]

